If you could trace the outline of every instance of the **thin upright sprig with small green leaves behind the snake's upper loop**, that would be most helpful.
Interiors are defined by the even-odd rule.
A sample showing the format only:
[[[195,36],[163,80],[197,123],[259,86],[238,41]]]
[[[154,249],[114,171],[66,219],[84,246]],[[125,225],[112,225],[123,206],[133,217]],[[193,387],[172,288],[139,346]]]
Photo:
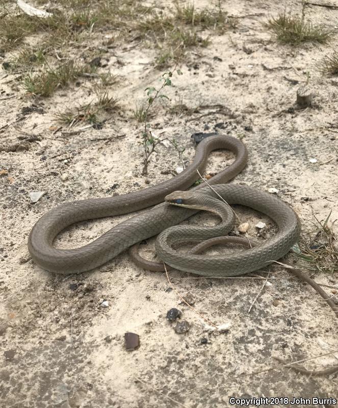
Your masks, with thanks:
[[[165,72],[162,75],[162,85],[159,89],[156,89],[154,87],[147,87],[145,89],[148,98],[146,108],[145,109],[144,107],[142,108],[142,112],[144,110],[144,113],[142,113],[142,117],[144,118],[144,127],[142,132],[142,144],[144,150],[142,175],[148,174],[149,158],[154,152],[155,147],[162,141],[161,139],[155,138],[151,133],[151,126],[150,123],[148,123],[149,111],[155,100],[163,98],[169,99],[167,95],[162,93],[162,91],[164,88],[172,86],[171,79],[175,71],[177,72],[178,75],[182,74],[180,69],[177,68],[176,64],[172,71]]]

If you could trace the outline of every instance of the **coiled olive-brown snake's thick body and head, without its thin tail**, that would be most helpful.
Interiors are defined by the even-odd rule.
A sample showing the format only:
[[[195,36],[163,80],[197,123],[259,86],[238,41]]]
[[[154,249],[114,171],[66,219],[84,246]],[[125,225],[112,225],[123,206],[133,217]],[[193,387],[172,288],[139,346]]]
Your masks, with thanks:
[[[212,189],[199,185],[186,191],[199,179],[198,172],[204,171],[210,153],[216,149],[232,151],[235,160],[211,177],[208,184]],[[291,249],[299,238],[301,225],[295,211],[278,197],[255,187],[227,183],[245,168],[247,159],[246,146],[240,139],[228,135],[205,138],[197,145],[191,164],[168,181],[123,195],[66,202],[48,211],[30,232],[28,249],[31,257],[41,268],[50,272],[81,273],[106,264],[125,249],[159,234],[156,243],[158,256],[173,268],[205,276],[236,276],[260,269]],[[199,202],[196,206],[193,198],[195,192]],[[192,198],[188,206],[185,194]],[[180,253],[172,248],[174,242],[203,241],[212,239],[215,234],[226,235],[233,221],[233,213],[226,209],[223,200],[227,205],[243,205],[266,214],[276,222],[277,234],[243,251],[212,257],[200,253]],[[209,211],[216,211],[226,221],[214,226],[217,232],[212,228],[203,227],[203,232],[201,227],[179,225],[206,207]],[[60,249],[53,245],[57,235],[76,222],[143,209],[147,210],[119,223],[82,247]]]

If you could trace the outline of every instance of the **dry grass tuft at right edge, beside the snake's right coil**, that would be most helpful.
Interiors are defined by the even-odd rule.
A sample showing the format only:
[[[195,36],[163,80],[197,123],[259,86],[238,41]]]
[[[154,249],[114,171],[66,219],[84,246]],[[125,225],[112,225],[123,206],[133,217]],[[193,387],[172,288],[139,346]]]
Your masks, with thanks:
[[[329,225],[332,210],[320,221],[315,215],[316,233],[308,242],[294,247],[294,255],[311,265],[312,270],[320,272],[338,272],[338,247],[332,230],[334,221]]]

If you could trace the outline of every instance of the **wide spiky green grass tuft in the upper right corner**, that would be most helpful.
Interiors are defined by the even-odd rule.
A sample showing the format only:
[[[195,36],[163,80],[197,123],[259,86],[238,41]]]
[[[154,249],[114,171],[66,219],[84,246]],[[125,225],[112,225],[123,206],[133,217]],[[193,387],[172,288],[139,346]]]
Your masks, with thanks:
[[[302,42],[326,43],[331,37],[332,32],[323,25],[316,25],[305,19],[304,7],[300,16],[284,12],[268,21],[268,29],[273,31],[280,42],[292,45]]]

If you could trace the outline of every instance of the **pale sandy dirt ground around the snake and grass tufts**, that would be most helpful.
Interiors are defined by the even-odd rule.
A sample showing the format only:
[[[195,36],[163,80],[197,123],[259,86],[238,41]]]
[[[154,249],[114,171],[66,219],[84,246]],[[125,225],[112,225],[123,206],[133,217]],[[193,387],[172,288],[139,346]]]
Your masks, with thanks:
[[[185,164],[194,156],[195,132],[216,130],[240,137],[249,163],[232,183],[265,191],[276,188],[279,198],[299,215],[306,241],[316,232],[314,215],[324,220],[332,211],[330,219],[338,218],[338,142],[336,131],[328,129],[337,123],[338,79],[323,76],[316,68],[337,45],[337,37],[327,45],[277,43],[262,23],[285,7],[299,10],[300,2],[225,2],[229,15],[240,17],[237,27],[213,35],[209,46],[188,53],[179,64],[183,75],[174,75],[174,86],[166,90],[170,100],[157,106],[151,123],[155,136],[174,137],[185,147]],[[306,10],[313,21],[336,29],[338,10],[316,6]],[[99,40],[91,46],[98,46]],[[196,279],[170,272],[175,290],[188,293],[197,312],[224,325],[225,329],[213,331],[181,302],[165,274],[138,268],[127,252],[94,271],[70,276],[48,273],[30,259],[28,235],[48,210],[62,202],[158,184],[180,165],[172,146],[159,145],[149,174],[141,175],[142,124],[133,110],[145,100],[144,89],[159,84],[163,71],[153,66],[154,50],[125,45],[107,49],[102,59],[107,65],[101,69],[118,75],[114,94],[120,108],[102,129],[69,135],[55,133],[54,115],[91,99],[89,79],[49,98],[34,98],[13,86],[18,74],[0,72],[2,95],[14,93],[0,98],[0,170],[7,170],[0,178],[0,405],[214,408],[231,406],[230,397],[338,398],[338,374],[307,376],[278,368],[280,363],[273,358],[288,362],[314,358],[302,363],[310,370],[336,365],[338,360],[334,314],[313,289],[280,266],[242,279]],[[296,91],[308,76],[314,103],[299,110]],[[190,115],[168,113],[179,98],[190,108],[209,108]],[[231,114],[215,113],[218,108],[213,106],[219,104]],[[24,107],[32,109],[23,115]],[[63,131],[68,132],[65,127]],[[12,148],[16,144],[26,147]],[[317,163],[310,163],[311,158]],[[232,160],[229,152],[214,152],[206,174],[220,171]],[[46,193],[33,203],[29,193],[35,190]],[[258,221],[267,222],[268,234],[273,231],[266,217],[238,211],[250,223],[253,239]],[[126,218],[71,226],[56,245],[82,246]],[[189,222],[209,223],[215,218],[200,214]],[[153,241],[148,244],[143,251],[151,258]],[[289,254],[284,262],[294,264],[296,259]],[[259,293],[268,271],[271,279]],[[328,285],[324,289],[334,297],[337,273],[318,272],[314,278]],[[107,308],[100,306],[103,300],[109,302]],[[176,323],[166,320],[171,308],[179,309],[181,319],[189,322],[187,333],[176,334]],[[140,336],[140,347],[134,351],[125,350],[127,331]],[[321,354],[327,355],[315,358]],[[297,406],[338,404],[311,400]]]

